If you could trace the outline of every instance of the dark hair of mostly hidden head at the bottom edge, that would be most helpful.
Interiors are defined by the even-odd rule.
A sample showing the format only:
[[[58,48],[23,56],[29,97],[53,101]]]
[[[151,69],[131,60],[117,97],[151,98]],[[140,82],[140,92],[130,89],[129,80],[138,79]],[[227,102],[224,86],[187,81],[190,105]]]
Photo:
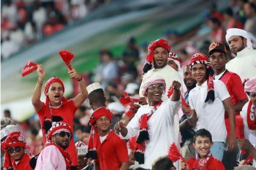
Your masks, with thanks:
[[[175,167],[172,160],[166,156],[163,156],[156,159],[152,165],[152,170],[169,170],[172,167]]]

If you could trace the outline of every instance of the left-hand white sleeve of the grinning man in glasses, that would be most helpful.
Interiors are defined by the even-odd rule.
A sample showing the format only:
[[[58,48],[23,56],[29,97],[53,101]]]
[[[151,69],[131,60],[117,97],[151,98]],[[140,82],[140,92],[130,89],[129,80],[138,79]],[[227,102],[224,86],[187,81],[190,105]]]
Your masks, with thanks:
[[[140,108],[138,109],[137,113],[134,115],[132,120],[126,126],[127,131],[128,131],[127,135],[125,137],[123,137],[120,133],[120,138],[121,139],[130,139],[131,137],[134,137],[139,133],[139,130],[140,130],[140,127],[139,127],[140,117],[139,117],[139,114],[138,114],[139,111],[140,111]]]

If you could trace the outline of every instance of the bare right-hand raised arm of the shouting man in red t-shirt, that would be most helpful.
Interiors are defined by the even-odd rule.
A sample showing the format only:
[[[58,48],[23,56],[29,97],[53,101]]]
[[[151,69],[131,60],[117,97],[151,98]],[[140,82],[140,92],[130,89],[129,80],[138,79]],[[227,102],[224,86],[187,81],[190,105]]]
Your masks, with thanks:
[[[86,90],[83,78],[80,74],[76,72],[74,68],[72,68],[72,70],[69,70],[68,74],[70,78],[75,78],[78,81],[81,93],[75,97],[74,104],[76,107],[80,107],[84,103],[84,100],[88,97],[88,92]]]

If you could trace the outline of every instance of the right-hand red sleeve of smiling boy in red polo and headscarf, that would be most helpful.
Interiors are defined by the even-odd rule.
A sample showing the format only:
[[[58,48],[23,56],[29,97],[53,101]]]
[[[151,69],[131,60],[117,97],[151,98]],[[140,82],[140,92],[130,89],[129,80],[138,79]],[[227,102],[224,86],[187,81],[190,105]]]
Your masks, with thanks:
[[[115,150],[117,158],[120,162],[129,162],[127,145],[124,139],[116,137]]]

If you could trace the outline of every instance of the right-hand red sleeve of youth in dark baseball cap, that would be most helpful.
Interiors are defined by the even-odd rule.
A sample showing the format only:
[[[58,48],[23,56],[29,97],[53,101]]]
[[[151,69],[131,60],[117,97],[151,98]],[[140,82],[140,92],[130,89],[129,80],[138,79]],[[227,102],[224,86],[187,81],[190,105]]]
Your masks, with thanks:
[[[247,99],[247,96],[244,92],[244,87],[242,85],[242,81],[241,81],[240,77],[234,73],[234,74],[232,74],[230,81],[231,81],[231,85],[233,85],[232,91],[235,94],[236,99],[239,101]]]

